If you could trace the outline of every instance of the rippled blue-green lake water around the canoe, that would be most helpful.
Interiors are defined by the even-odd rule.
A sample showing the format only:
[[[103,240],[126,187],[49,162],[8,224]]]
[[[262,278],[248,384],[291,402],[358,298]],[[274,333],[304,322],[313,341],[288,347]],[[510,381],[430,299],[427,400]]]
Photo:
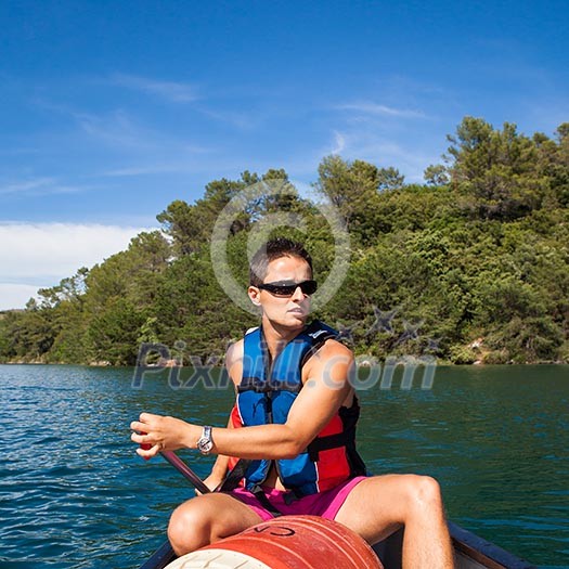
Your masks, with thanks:
[[[228,389],[173,390],[131,368],[0,365],[0,567],[137,568],[192,496],[130,442],[141,411],[223,425]],[[360,392],[371,470],[435,476],[456,523],[569,567],[569,367],[439,367],[432,389]],[[210,457],[181,456],[205,476]]]

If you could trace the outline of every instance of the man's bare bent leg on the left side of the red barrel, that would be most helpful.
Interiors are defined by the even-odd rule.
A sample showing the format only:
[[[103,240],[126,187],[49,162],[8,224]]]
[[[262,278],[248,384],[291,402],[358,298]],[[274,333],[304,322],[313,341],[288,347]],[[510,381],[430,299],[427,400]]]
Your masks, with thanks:
[[[170,518],[168,539],[184,555],[260,523],[248,506],[227,494],[205,494],[178,506]]]

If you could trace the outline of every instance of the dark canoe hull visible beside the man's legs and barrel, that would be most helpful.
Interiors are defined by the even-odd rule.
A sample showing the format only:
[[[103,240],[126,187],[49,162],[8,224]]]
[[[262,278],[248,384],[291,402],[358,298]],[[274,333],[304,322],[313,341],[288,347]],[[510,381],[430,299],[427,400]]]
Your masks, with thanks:
[[[456,523],[449,522],[454,547],[456,569],[536,569],[493,543],[479,538]],[[401,544],[403,531],[400,530],[387,540],[374,545],[376,555],[385,569],[401,569]],[[164,543],[140,569],[163,569],[176,559],[170,544]],[[363,569],[363,568],[362,568]]]

